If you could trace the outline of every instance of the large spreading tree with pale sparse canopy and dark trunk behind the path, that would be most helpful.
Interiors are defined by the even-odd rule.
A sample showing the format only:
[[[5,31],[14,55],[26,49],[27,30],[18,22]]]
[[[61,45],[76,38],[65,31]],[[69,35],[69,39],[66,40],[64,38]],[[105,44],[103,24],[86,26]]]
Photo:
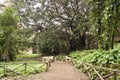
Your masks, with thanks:
[[[85,0],[33,0],[25,2],[14,0],[14,3],[21,6],[21,8],[16,7],[19,10],[21,22],[32,26],[35,32],[55,27],[55,29],[66,31],[71,35],[65,39],[68,50],[85,49],[86,33],[89,28],[89,6]]]

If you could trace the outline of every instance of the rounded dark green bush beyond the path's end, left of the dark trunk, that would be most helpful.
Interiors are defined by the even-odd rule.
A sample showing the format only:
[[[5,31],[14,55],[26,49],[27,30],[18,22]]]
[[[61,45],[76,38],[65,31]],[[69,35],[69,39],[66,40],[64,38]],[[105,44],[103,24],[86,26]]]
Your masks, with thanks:
[[[59,52],[59,36],[55,30],[41,32],[38,41],[42,53],[52,55]]]

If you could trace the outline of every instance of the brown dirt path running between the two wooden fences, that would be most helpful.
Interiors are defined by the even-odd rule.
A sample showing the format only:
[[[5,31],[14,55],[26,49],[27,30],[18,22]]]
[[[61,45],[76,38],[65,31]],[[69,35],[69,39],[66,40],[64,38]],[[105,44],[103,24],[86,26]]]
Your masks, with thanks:
[[[2,79],[2,80],[89,80],[89,78],[74,68],[71,64],[57,61],[47,72],[30,75],[18,79]]]

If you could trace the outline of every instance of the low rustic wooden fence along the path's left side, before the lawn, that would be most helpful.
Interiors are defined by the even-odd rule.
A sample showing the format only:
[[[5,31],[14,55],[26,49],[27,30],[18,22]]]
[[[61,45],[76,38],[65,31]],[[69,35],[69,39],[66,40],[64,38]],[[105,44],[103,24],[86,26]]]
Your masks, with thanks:
[[[14,66],[14,65],[15,66]],[[0,77],[4,76],[24,76],[27,74],[35,74],[42,71],[47,71],[50,67],[50,61],[46,63],[2,63],[0,64]],[[37,67],[35,65],[38,65]]]

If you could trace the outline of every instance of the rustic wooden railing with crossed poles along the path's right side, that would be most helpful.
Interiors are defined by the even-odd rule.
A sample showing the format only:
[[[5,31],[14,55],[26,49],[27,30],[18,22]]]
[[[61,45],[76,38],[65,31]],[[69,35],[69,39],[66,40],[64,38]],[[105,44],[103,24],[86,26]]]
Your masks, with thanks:
[[[75,59],[68,57],[66,62],[79,65],[79,69],[87,73],[91,80],[120,80],[120,70],[96,66],[88,63],[77,63]]]

